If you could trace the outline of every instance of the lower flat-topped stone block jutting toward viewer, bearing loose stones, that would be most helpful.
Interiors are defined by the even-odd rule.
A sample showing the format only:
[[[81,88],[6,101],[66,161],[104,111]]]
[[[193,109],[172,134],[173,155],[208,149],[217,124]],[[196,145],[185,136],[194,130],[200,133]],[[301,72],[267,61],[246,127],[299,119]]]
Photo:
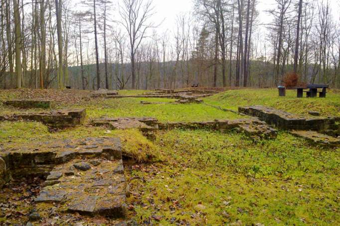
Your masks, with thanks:
[[[91,164],[94,160],[99,164]],[[79,163],[90,169],[78,169],[75,166]],[[54,203],[58,210],[69,213],[124,218],[127,205],[123,170],[122,160],[74,159],[51,171],[50,175],[62,177],[57,184],[44,187],[35,202]]]

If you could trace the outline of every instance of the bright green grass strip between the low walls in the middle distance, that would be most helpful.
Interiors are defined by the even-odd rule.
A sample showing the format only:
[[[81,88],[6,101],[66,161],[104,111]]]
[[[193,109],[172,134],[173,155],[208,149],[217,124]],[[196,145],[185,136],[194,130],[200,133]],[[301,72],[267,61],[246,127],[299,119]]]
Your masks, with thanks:
[[[165,98],[122,98],[93,100],[86,105],[73,106],[86,108],[90,118],[107,117],[155,117],[167,121],[207,121],[215,119],[236,119],[238,114],[223,112],[203,104],[141,104],[149,102],[173,102]]]

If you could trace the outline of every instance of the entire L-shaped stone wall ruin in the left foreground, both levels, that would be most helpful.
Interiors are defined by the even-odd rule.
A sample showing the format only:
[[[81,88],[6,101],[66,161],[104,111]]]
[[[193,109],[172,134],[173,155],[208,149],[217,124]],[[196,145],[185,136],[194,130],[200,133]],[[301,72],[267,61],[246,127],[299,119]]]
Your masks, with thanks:
[[[28,144],[0,152],[0,187],[8,178],[34,175],[48,175],[36,203],[49,203],[59,212],[125,216],[126,181],[118,138]],[[39,211],[48,210],[41,206]]]

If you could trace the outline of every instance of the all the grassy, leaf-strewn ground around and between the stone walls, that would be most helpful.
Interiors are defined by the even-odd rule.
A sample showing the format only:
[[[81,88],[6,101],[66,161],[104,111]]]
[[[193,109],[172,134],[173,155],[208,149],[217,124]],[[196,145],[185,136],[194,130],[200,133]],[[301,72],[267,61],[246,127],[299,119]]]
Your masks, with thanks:
[[[0,92],[0,98],[17,98],[17,93],[8,91],[7,96]],[[91,118],[152,116],[161,121],[198,121],[240,117],[202,104],[140,104],[141,100],[171,99],[83,101],[73,94],[68,103],[68,97],[59,93],[57,108],[85,107]],[[234,110],[262,104],[299,114],[317,110],[339,116],[340,93],[331,91],[326,99],[297,99],[295,94],[291,90],[280,98],[276,89],[245,89],[226,91],[204,101]],[[12,111],[0,106],[0,111],[4,110]],[[40,123],[0,122],[0,151],[27,142],[93,136],[122,140],[124,155],[130,159],[125,162],[130,186],[128,215],[136,225],[340,225],[340,148],[311,145],[284,131],[276,140],[253,143],[232,132],[171,130],[158,132],[157,140],[151,142],[137,130],[110,131],[84,125],[49,133]],[[39,181],[30,183],[12,185],[0,193],[0,225],[26,224],[39,187]],[[60,217],[65,225],[111,224],[82,216],[69,217],[66,222],[67,218]]]

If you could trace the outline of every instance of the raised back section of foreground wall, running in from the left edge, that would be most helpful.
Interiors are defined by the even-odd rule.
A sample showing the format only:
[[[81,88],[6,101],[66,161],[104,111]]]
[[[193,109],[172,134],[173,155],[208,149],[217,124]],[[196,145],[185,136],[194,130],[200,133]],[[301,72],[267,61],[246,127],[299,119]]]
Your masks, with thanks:
[[[121,160],[120,139],[89,137],[9,146],[0,152],[0,169],[6,169],[5,173],[0,170],[0,180],[7,181],[8,174],[14,179],[26,175],[48,175],[47,179],[55,183],[61,178],[60,173],[49,172],[57,165],[78,158]]]

